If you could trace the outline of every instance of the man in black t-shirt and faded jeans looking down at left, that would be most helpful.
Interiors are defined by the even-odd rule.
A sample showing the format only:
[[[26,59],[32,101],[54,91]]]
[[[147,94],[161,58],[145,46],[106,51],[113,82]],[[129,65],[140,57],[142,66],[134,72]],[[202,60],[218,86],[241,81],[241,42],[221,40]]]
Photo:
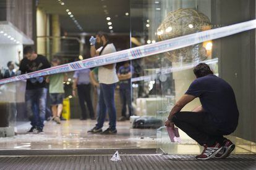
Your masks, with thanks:
[[[20,63],[20,71],[22,73],[31,73],[51,67],[46,57],[36,54],[30,46],[23,49],[23,54],[27,60],[23,60]],[[28,132],[35,132],[37,130],[39,134],[44,134],[43,121],[45,120],[46,94],[47,89],[44,77],[27,80],[25,100],[32,125]]]

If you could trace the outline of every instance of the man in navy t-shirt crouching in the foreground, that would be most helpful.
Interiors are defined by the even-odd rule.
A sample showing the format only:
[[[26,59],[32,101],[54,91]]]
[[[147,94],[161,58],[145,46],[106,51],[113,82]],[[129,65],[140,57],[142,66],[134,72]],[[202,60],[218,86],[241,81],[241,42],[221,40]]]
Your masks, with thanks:
[[[187,92],[171,110],[166,126],[174,124],[205,147],[198,160],[226,158],[235,145],[224,138],[236,130],[239,118],[236,97],[232,87],[223,79],[213,75],[206,63],[194,68],[197,77]],[[181,111],[189,102],[199,97],[202,106],[192,111]]]

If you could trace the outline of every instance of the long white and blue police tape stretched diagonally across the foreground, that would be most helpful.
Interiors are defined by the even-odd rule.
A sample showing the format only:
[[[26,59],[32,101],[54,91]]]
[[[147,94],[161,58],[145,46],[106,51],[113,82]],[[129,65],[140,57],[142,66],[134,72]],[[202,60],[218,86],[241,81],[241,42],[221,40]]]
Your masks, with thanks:
[[[223,38],[232,34],[241,33],[256,28],[256,20],[237,23],[234,25],[215,28],[213,30],[201,31],[198,33],[179,36],[177,38],[167,39],[156,42],[154,44],[147,44],[144,46],[126,49],[124,51],[113,52],[111,54],[100,55],[90,59],[81,60],[79,62],[67,63],[57,67],[46,68],[45,70],[34,71],[24,75],[15,76],[12,78],[0,80],[0,84],[20,81],[22,79],[30,79],[38,76],[53,75],[56,73],[65,73],[69,71],[82,70],[84,68],[100,67],[111,63],[124,62],[126,60],[140,59],[150,55],[160,54],[163,52],[181,49],[182,47],[192,46],[204,41],[212,39]]]

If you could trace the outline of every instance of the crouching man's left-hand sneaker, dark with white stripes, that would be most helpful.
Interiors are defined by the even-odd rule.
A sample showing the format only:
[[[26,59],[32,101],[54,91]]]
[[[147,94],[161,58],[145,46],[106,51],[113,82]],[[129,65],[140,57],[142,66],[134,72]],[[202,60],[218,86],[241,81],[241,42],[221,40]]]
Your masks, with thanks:
[[[216,143],[213,146],[208,147],[207,145],[204,145],[205,149],[201,153],[201,155],[197,155],[195,158],[197,160],[208,160],[209,158],[212,158],[216,155],[216,153],[220,152],[221,145],[219,143]]]

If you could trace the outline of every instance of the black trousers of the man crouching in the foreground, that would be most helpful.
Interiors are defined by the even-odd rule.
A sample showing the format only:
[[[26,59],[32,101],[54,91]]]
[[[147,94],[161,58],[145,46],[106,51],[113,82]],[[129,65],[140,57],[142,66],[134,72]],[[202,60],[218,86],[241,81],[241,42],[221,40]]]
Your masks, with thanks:
[[[215,142],[223,145],[226,138],[223,135],[231,134],[218,129],[212,118],[205,112],[180,111],[173,116],[173,123],[200,145],[214,145]]]

